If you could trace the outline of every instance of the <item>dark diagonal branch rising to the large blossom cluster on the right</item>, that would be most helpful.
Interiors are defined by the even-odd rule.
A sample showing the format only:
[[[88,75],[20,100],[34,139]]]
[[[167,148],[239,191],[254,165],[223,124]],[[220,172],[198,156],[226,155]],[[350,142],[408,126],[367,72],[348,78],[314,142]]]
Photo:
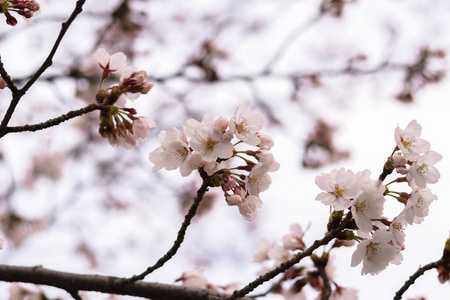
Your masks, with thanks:
[[[345,228],[345,226],[347,225],[348,222],[350,222],[351,219],[352,214],[349,212],[347,214],[347,217],[345,217],[345,219],[341,222],[341,224],[338,227],[336,227],[336,229],[328,233],[324,238],[322,238],[321,240],[314,241],[314,243],[305,251],[298,253],[292,259],[282,263],[281,265],[267,272],[266,274],[259,276],[244,288],[235,291],[229,299],[237,299],[239,297],[244,297],[245,295],[256,289],[258,286],[263,284],[264,282],[271,280],[278,274],[284,273],[286,270],[293,267],[295,264],[299,263],[303,258],[311,256],[314,250],[316,250],[320,246],[328,244],[331,240],[333,240]]]

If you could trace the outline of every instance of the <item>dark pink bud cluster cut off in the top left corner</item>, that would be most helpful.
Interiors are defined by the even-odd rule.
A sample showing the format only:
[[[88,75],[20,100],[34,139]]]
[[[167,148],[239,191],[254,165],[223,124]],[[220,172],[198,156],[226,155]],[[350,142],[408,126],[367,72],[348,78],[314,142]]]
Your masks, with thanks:
[[[27,22],[32,23],[31,18],[40,13],[40,6],[37,1],[32,0],[0,0],[0,13],[6,16],[6,24],[15,26],[17,19],[11,15],[16,12]]]

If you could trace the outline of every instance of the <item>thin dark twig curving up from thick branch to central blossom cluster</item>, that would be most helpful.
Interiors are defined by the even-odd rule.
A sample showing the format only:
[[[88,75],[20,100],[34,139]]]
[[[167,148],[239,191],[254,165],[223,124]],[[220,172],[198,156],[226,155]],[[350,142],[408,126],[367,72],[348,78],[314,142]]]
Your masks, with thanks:
[[[183,224],[181,224],[181,228],[177,234],[177,239],[173,243],[172,247],[153,266],[148,267],[147,270],[145,270],[143,273],[141,273],[139,275],[134,275],[131,278],[125,279],[124,280],[125,284],[144,279],[145,276],[147,276],[148,274],[152,273],[156,269],[161,268],[166,262],[168,262],[177,253],[178,249],[180,248],[181,244],[183,243],[184,236],[186,234],[186,230],[187,230],[188,226],[191,224],[191,220],[197,212],[197,208],[200,204],[200,201],[202,201],[203,196],[207,192],[208,186],[210,184],[210,178],[208,176],[206,176],[206,174],[202,177],[203,177],[203,184],[198,189],[197,196],[194,199],[194,203],[192,203],[191,208],[189,209],[188,213],[184,217]]]

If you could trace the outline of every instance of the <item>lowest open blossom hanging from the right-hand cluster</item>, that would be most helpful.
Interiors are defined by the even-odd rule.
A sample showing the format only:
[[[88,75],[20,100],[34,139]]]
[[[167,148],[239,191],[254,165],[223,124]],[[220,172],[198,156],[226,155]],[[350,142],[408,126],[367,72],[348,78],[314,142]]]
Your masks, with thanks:
[[[358,244],[352,255],[351,266],[355,267],[362,262],[362,275],[379,274],[397,255],[395,247],[390,243],[391,240],[391,232],[375,231],[371,239],[366,239]]]

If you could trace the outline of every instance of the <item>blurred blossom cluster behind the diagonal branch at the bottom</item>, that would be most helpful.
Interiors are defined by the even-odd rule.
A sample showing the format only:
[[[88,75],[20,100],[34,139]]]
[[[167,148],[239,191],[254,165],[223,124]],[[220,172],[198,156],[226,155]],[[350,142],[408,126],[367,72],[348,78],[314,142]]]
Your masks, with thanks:
[[[260,239],[259,249],[253,256],[254,262],[265,264],[260,275],[266,273],[273,266],[278,266],[304,251],[306,244],[303,241],[303,236],[302,227],[299,224],[292,224],[290,233],[284,235],[279,242]],[[343,245],[341,244],[341,246]],[[311,260],[313,266],[294,266],[287,270],[281,281],[277,283],[277,288],[273,289],[272,292],[283,295],[285,299],[306,299],[304,287],[309,286],[319,292],[317,299],[322,299],[326,291],[321,276],[321,272],[324,272],[328,280],[333,283],[329,299],[357,299],[356,290],[342,287],[335,282],[332,260],[327,252],[321,257],[313,254]]]

